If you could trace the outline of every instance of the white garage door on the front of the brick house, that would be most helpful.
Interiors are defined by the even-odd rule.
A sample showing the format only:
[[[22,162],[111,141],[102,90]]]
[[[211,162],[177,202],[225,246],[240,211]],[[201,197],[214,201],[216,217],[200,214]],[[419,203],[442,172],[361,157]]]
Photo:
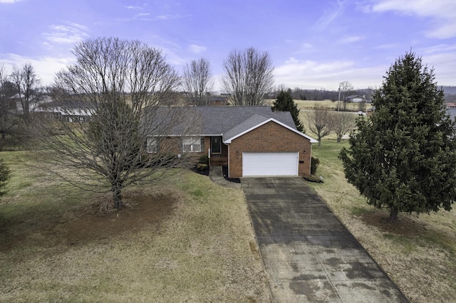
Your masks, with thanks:
[[[244,152],[242,176],[297,176],[297,152]]]

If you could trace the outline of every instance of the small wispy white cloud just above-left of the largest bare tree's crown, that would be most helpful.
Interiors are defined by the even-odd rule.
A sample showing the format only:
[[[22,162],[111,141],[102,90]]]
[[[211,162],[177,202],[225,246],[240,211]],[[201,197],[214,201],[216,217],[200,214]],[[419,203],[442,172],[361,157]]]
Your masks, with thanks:
[[[59,44],[72,44],[88,38],[88,27],[78,23],[49,26],[51,31],[43,33],[46,40]]]

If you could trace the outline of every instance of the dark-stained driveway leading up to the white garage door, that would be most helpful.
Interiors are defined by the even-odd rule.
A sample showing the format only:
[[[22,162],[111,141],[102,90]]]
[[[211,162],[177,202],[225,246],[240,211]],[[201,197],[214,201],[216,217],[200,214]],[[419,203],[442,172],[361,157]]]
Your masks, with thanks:
[[[408,302],[301,178],[242,178],[273,302]]]

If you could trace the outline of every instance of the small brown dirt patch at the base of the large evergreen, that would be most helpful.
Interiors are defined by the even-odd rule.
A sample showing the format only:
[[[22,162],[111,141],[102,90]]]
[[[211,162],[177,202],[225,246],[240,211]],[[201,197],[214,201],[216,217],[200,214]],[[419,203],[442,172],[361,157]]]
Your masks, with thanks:
[[[361,220],[367,225],[375,226],[383,233],[394,233],[407,237],[421,235],[427,230],[424,223],[420,223],[407,216],[401,216],[397,223],[389,223],[388,214],[380,211],[363,213]]]

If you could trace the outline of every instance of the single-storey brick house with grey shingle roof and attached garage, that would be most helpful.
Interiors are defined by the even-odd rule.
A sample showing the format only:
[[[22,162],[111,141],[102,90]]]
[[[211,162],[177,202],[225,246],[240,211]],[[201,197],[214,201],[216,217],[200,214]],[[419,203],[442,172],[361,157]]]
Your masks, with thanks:
[[[185,113],[179,123],[147,139],[150,153],[205,154],[210,166],[227,166],[231,178],[310,174],[311,144],[317,141],[296,130],[289,112],[269,106],[161,107],[156,125],[166,124],[176,111]],[[182,134],[189,124],[197,127]]]

